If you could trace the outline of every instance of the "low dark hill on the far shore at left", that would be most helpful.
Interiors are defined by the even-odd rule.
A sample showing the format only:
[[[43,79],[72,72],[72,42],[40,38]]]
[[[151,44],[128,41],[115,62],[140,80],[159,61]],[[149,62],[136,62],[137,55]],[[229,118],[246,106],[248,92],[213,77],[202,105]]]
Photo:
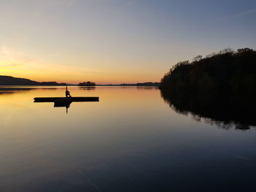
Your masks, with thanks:
[[[0,75],[0,85],[66,85],[66,83],[37,82],[24,78]]]

